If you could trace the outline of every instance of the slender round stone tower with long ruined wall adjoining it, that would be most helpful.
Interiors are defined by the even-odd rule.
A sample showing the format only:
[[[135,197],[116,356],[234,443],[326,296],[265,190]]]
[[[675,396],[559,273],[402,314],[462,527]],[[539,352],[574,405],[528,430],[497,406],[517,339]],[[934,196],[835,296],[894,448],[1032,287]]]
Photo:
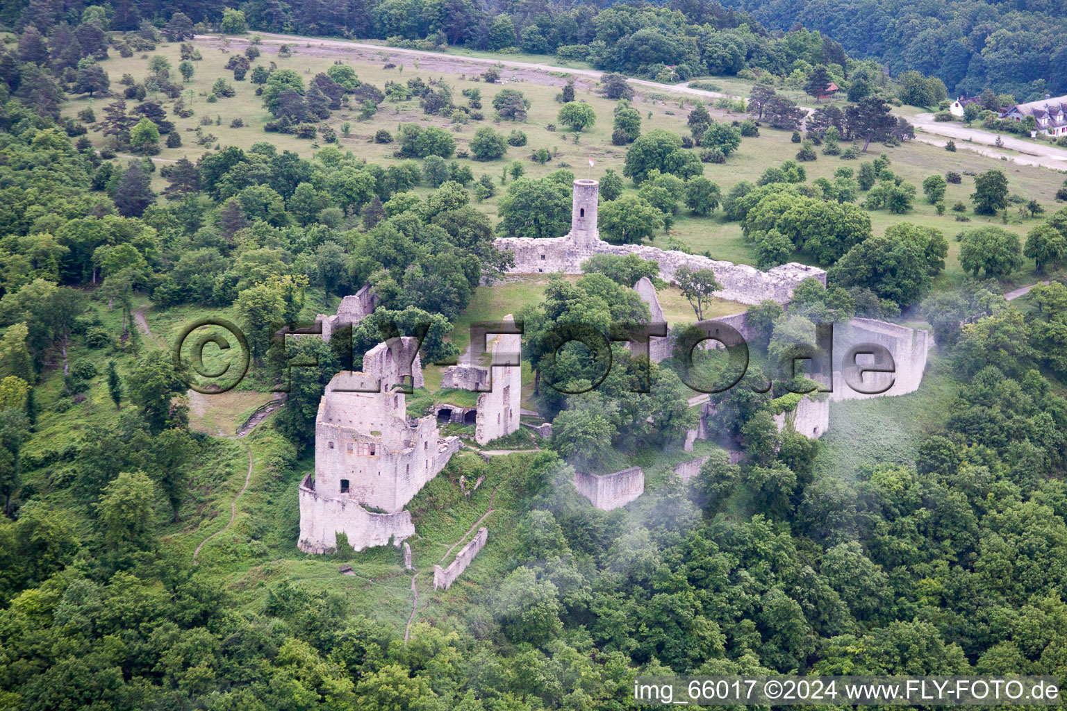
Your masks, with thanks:
[[[642,259],[651,259],[659,264],[659,277],[670,281],[678,268],[687,264],[690,269],[711,269],[722,285],[716,296],[759,304],[771,298],[779,304],[790,301],[793,289],[800,281],[815,277],[826,284],[826,271],[790,262],[761,272],[747,264],[708,259],[701,255],[690,255],[673,249],[659,249],[643,244],[608,244],[600,239],[596,228],[596,204],[600,198],[600,182],[596,180],[575,180],[571,212],[571,231],[563,237],[528,238],[501,237],[494,241],[497,249],[510,249],[515,256],[512,274],[580,274],[582,262],[594,254],[635,254]]]

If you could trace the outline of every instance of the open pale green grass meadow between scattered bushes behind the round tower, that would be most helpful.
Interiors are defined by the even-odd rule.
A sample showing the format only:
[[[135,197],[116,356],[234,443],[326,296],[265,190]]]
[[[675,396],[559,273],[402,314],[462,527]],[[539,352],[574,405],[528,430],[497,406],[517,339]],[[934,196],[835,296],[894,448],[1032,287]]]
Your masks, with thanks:
[[[270,119],[270,115],[262,108],[259,97],[255,96],[255,85],[249,81],[233,81],[232,72],[223,68],[230,54],[243,51],[248,46],[246,38],[206,37],[196,39],[194,44],[201,50],[203,60],[195,63],[196,72],[192,81],[186,84],[186,91],[187,93],[192,92],[194,95],[194,98],[187,100],[187,104],[196,113],[187,119],[177,118],[173,114],[169,116],[175,123],[184,145],[180,148],[163,148],[157,156],[160,163],[177,160],[182,156],[192,160],[205,150],[213,149],[214,145],[236,145],[248,149],[257,141],[270,142],[278,150],[294,150],[305,157],[314,155],[320,145],[319,143],[300,140],[292,135],[264,132],[262,126]],[[306,46],[307,44],[310,46]],[[471,122],[466,125],[453,125],[449,118],[441,116],[427,116],[418,107],[417,100],[396,103],[386,101],[381,104],[378,113],[367,122],[356,119],[357,111],[354,106],[345,107],[340,111],[334,112],[333,116],[325,123],[337,131],[338,136],[340,136],[339,145],[368,161],[387,164],[397,160],[393,157],[394,145],[376,144],[372,142],[372,136],[379,129],[395,132],[398,124],[411,122],[424,126],[436,125],[448,128],[455,132],[460,150],[466,147],[466,143],[474,132],[484,125],[493,126],[496,130],[505,133],[514,128],[524,131],[528,136],[527,145],[521,148],[509,148],[505,159],[490,162],[459,159],[460,163],[466,163],[472,167],[476,178],[488,175],[497,184],[500,182],[499,179],[505,166],[512,160],[522,161],[526,174],[532,177],[546,175],[560,167],[570,168],[580,176],[586,173],[588,157],[593,158],[596,164],[592,171],[595,174],[594,177],[603,174],[603,171],[608,167],[617,172],[622,171],[625,146],[610,144],[611,113],[616,103],[601,97],[594,91],[595,86],[592,80],[587,77],[575,77],[577,98],[587,101],[593,108],[598,119],[594,126],[576,135],[558,126],[554,131],[547,130],[550,124],[556,123],[556,112],[560,106],[556,102],[555,97],[566,81],[566,75],[560,76],[561,72],[509,69],[505,70],[505,83],[487,84],[475,81],[485,66],[472,62],[464,63],[463,54],[459,52],[416,59],[411,55],[392,55],[389,48],[384,46],[381,51],[356,50],[355,48],[325,47],[316,44],[315,41],[293,45],[292,56],[287,59],[276,55],[277,45],[265,44],[261,46],[261,50],[264,53],[256,64],[269,65],[273,62],[278,67],[297,70],[305,78],[305,81],[309,81],[319,71],[325,71],[334,62],[345,62],[355,69],[363,81],[373,83],[379,87],[382,87],[386,81],[403,82],[416,76],[424,80],[444,78],[452,87],[457,103],[464,101],[463,97],[459,96],[461,90],[467,87],[481,90],[482,113],[487,119],[484,122]],[[147,75],[148,58],[154,54],[165,56],[174,67],[178,64],[177,44],[162,44],[156,52],[149,52],[143,56],[134,55],[128,59],[112,56],[105,61],[102,65],[112,79],[113,88],[120,88],[118,79],[124,74],[130,74],[137,79],[142,79]],[[484,53],[475,52],[475,54]],[[503,59],[505,61],[510,59],[541,63],[553,62],[553,58],[540,55],[509,54]],[[396,66],[389,69],[383,68],[387,60],[392,60]],[[180,79],[176,68],[172,74]],[[210,87],[219,77],[225,77],[237,91],[237,95],[233,98],[220,99],[216,103],[208,103],[207,96]],[[706,81],[711,81],[726,93],[738,95],[747,95],[752,83],[737,78],[724,77],[714,77]],[[526,122],[494,123],[492,97],[503,88],[517,88],[530,100],[529,115]],[[670,98],[671,87],[669,85],[664,85],[662,90],[652,90],[646,86],[637,88],[638,93],[634,106],[641,113],[642,131],[666,128],[683,135],[688,133],[685,122],[688,110],[692,106],[692,97],[674,94],[673,96],[678,98]],[[799,93],[794,93],[797,94],[794,98],[802,99]],[[163,97],[157,96],[156,98]],[[99,117],[107,102],[108,99],[82,97],[68,101],[63,111],[67,115],[74,115],[85,106],[92,106]],[[170,101],[164,101],[164,108],[169,107],[170,103]],[[841,101],[838,100],[838,103]],[[719,120],[734,120],[745,117],[743,114],[727,113],[717,109],[711,111],[713,116]],[[216,144],[207,147],[201,147],[193,143],[194,129],[201,125],[204,117],[212,119],[212,124],[204,126],[203,130],[217,136]],[[243,128],[230,128],[230,122],[237,117],[243,120]],[[351,125],[351,134],[348,138],[341,136],[341,126],[346,122]],[[101,139],[99,133],[91,132],[90,135],[94,141]],[[577,143],[575,143],[575,138],[577,138]],[[530,153],[537,148],[547,148],[554,151],[554,160],[543,165],[534,162],[530,159]],[[790,142],[790,132],[764,127],[761,129],[759,138],[745,139],[740,148],[728,158],[726,164],[705,164],[704,175],[718,183],[726,193],[740,180],[757,180],[767,167],[792,158],[796,150],[797,146]],[[967,150],[947,152],[918,142],[911,142],[896,148],[872,145],[867,156],[863,156],[859,161],[841,161],[835,157],[819,156],[817,161],[806,163],[805,167],[808,171],[809,180],[829,177],[837,168],[842,166],[856,167],[860,162],[873,158],[878,152],[888,153],[892,160],[891,168],[893,172],[917,187],[921,187],[923,179],[934,173],[946,171],[961,173],[964,175],[962,183],[949,185],[944,199],[945,205],[950,207],[956,201],[962,201],[970,208],[969,197],[973,192],[973,175],[993,167],[1003,169],[1007,174],[1013,193],[1025,199],[1036,198],[1050,211],[1056,207],[1053,197],[1062,181],[1055,174],[1046,168],[998,161]],[[155,184],[157,189],[161,189],[164,184],[158,174],[156,174]],[[628,182],[627,190],[633,190]],[[426,194],[429,189],[418,188],[416,192]],[[491,220],[496,219],[496,205],[500,193],[503,193],[503,187],[497,191],[496,196],[487,199],[480,206]],[[981,224],[984,220],[975,217],[970,212],[968,215],[971,217],[971,223],[956,222],[956,213],[951,210],[946,211],[944,215],[938,215],[934,207],[925,200],[921,190],[917,195],[912,212],[907,214],[872,212],[875,232],[880,232],[898,222],[913,222],[937,227],[950,238],[961,228]],[[1006,227],[1024,235],[1038,221],[1039,219],[1022,219],[1012,208],[1009,223]],[[707,252],[715,259],[736,263],[754,263],[754,252],[751,245],[743,241],[739,226],[726,222],[721,214],[697,217],[687,214],[687,211],[683,209],[671,233],[689,245],[692,251]],[[947,269],[938,286],[952,286],[959,280],[960,276],[954,251],[950,255]],[[461,337],[457,335],[456,338]]]

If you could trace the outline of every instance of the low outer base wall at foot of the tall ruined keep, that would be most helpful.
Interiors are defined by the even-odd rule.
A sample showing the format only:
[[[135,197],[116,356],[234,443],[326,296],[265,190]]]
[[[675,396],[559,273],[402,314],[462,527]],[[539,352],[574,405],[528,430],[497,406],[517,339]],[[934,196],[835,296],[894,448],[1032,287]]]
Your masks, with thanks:
[[[411,514],[373,514],[354,499],[318,496],[312,474],[300,484],[300,539],[297,547],[305,553],[329,553],[337,547],[337,532],[344,532],[355,550],[384,546],[392,540],[399,546],[415,534]],[[314,543],[313,543],[314,542]]]

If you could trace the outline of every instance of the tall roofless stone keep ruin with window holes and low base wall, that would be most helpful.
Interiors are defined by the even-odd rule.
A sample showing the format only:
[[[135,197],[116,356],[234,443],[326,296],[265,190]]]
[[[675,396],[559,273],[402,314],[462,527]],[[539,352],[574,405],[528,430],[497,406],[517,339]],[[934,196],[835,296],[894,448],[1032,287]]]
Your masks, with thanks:
[[[393,391],[408,362],[412,385],[421,387],[417,348],[414,338],[379,343],[363,372],[341,371],[327,386],[315,419],[315,472],[300,485],[300,550],[325,553],[338,531],[356,550],[391,539],[399,546],[414,534],[404,504],[459,450],[459,438],[441,438],[433,415],[409,418],[405,395]]]

